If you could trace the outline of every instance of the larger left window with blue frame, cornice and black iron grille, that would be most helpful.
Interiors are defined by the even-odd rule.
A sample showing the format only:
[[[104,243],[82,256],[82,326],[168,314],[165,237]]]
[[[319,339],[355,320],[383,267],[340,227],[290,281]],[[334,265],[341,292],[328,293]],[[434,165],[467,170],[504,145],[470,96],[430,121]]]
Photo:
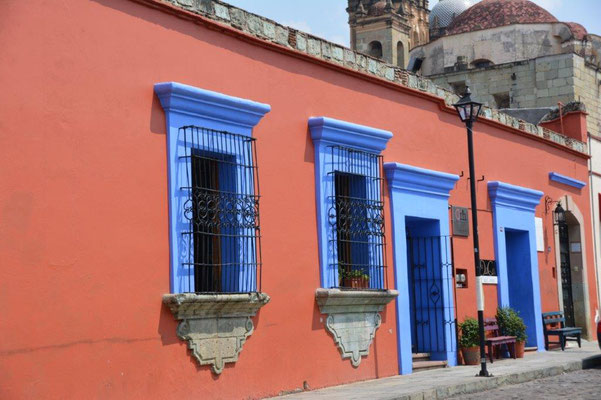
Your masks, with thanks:
[[[252,129],[270,106],[175,82],[154,88],[167,125],[171,292],[260,291]]]

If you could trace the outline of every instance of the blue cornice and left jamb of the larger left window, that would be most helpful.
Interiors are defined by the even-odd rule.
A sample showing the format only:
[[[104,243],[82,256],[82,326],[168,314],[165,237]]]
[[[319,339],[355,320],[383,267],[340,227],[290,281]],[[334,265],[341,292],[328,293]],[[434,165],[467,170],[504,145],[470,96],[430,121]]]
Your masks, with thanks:
[[[177,82],[157,83],[154,91],[165,110],[167,125],[170,290],[182,293],[190,288],[185,279],[189,271],[180,259],[181,250],[187,245],[181,238],[182,227],[187,224],[182,212],[187,194],[180,189],[185,186],[187,159],[182,158],[186,148],[178,138],[179,128],[196,125],[251,136],[252,129],[271,107]]]

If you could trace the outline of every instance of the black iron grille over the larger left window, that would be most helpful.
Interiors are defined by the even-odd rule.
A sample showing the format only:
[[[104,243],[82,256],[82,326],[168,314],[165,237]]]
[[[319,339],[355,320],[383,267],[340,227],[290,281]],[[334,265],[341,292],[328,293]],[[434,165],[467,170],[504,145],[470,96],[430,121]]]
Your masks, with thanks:
[[[261,291],[259,177],[255,139],[198,126],[179,129],[182,267],[190,292]]]

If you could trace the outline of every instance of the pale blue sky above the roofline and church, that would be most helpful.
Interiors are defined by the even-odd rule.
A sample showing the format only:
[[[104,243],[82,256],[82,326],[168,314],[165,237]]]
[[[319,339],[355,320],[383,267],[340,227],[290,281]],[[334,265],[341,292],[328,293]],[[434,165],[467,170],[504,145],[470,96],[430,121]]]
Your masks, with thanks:
[[[312,33],[332,42],[349,45],[346,0],[225,0],[236,7]],[[601,0],[534,0],[560,21],[578,22],[601,35]],[[433,7],[437,0],[430,0]]]

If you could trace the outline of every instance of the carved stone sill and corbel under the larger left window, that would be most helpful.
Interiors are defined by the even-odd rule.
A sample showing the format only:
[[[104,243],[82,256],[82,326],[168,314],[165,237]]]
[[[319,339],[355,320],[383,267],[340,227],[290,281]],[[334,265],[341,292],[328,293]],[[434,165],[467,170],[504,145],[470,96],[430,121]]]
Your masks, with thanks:
[[[269,302],[265,293],[166,294],[165,303],[176,320],[177,336],[200,365],[221,374],[226,363],[238,361],[242,346],[253,333],[250,317]]]

